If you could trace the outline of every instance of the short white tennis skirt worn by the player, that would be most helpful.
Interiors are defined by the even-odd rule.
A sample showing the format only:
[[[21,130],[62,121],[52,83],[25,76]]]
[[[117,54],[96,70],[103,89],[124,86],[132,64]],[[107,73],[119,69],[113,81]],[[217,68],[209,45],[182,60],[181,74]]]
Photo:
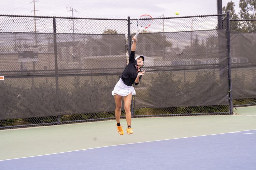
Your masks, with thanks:
[[[124,84],[124,82],[122,81],[122,79],[120,78],[119,81],[116,83],[114,90],[112,91],[112,95],[115,96],[120,95],[120,96],[127,96],[129,94],[132,95],[136,95],[136,91],[134,89],[134,87],[132,86],[127,86],[126,84]]]

